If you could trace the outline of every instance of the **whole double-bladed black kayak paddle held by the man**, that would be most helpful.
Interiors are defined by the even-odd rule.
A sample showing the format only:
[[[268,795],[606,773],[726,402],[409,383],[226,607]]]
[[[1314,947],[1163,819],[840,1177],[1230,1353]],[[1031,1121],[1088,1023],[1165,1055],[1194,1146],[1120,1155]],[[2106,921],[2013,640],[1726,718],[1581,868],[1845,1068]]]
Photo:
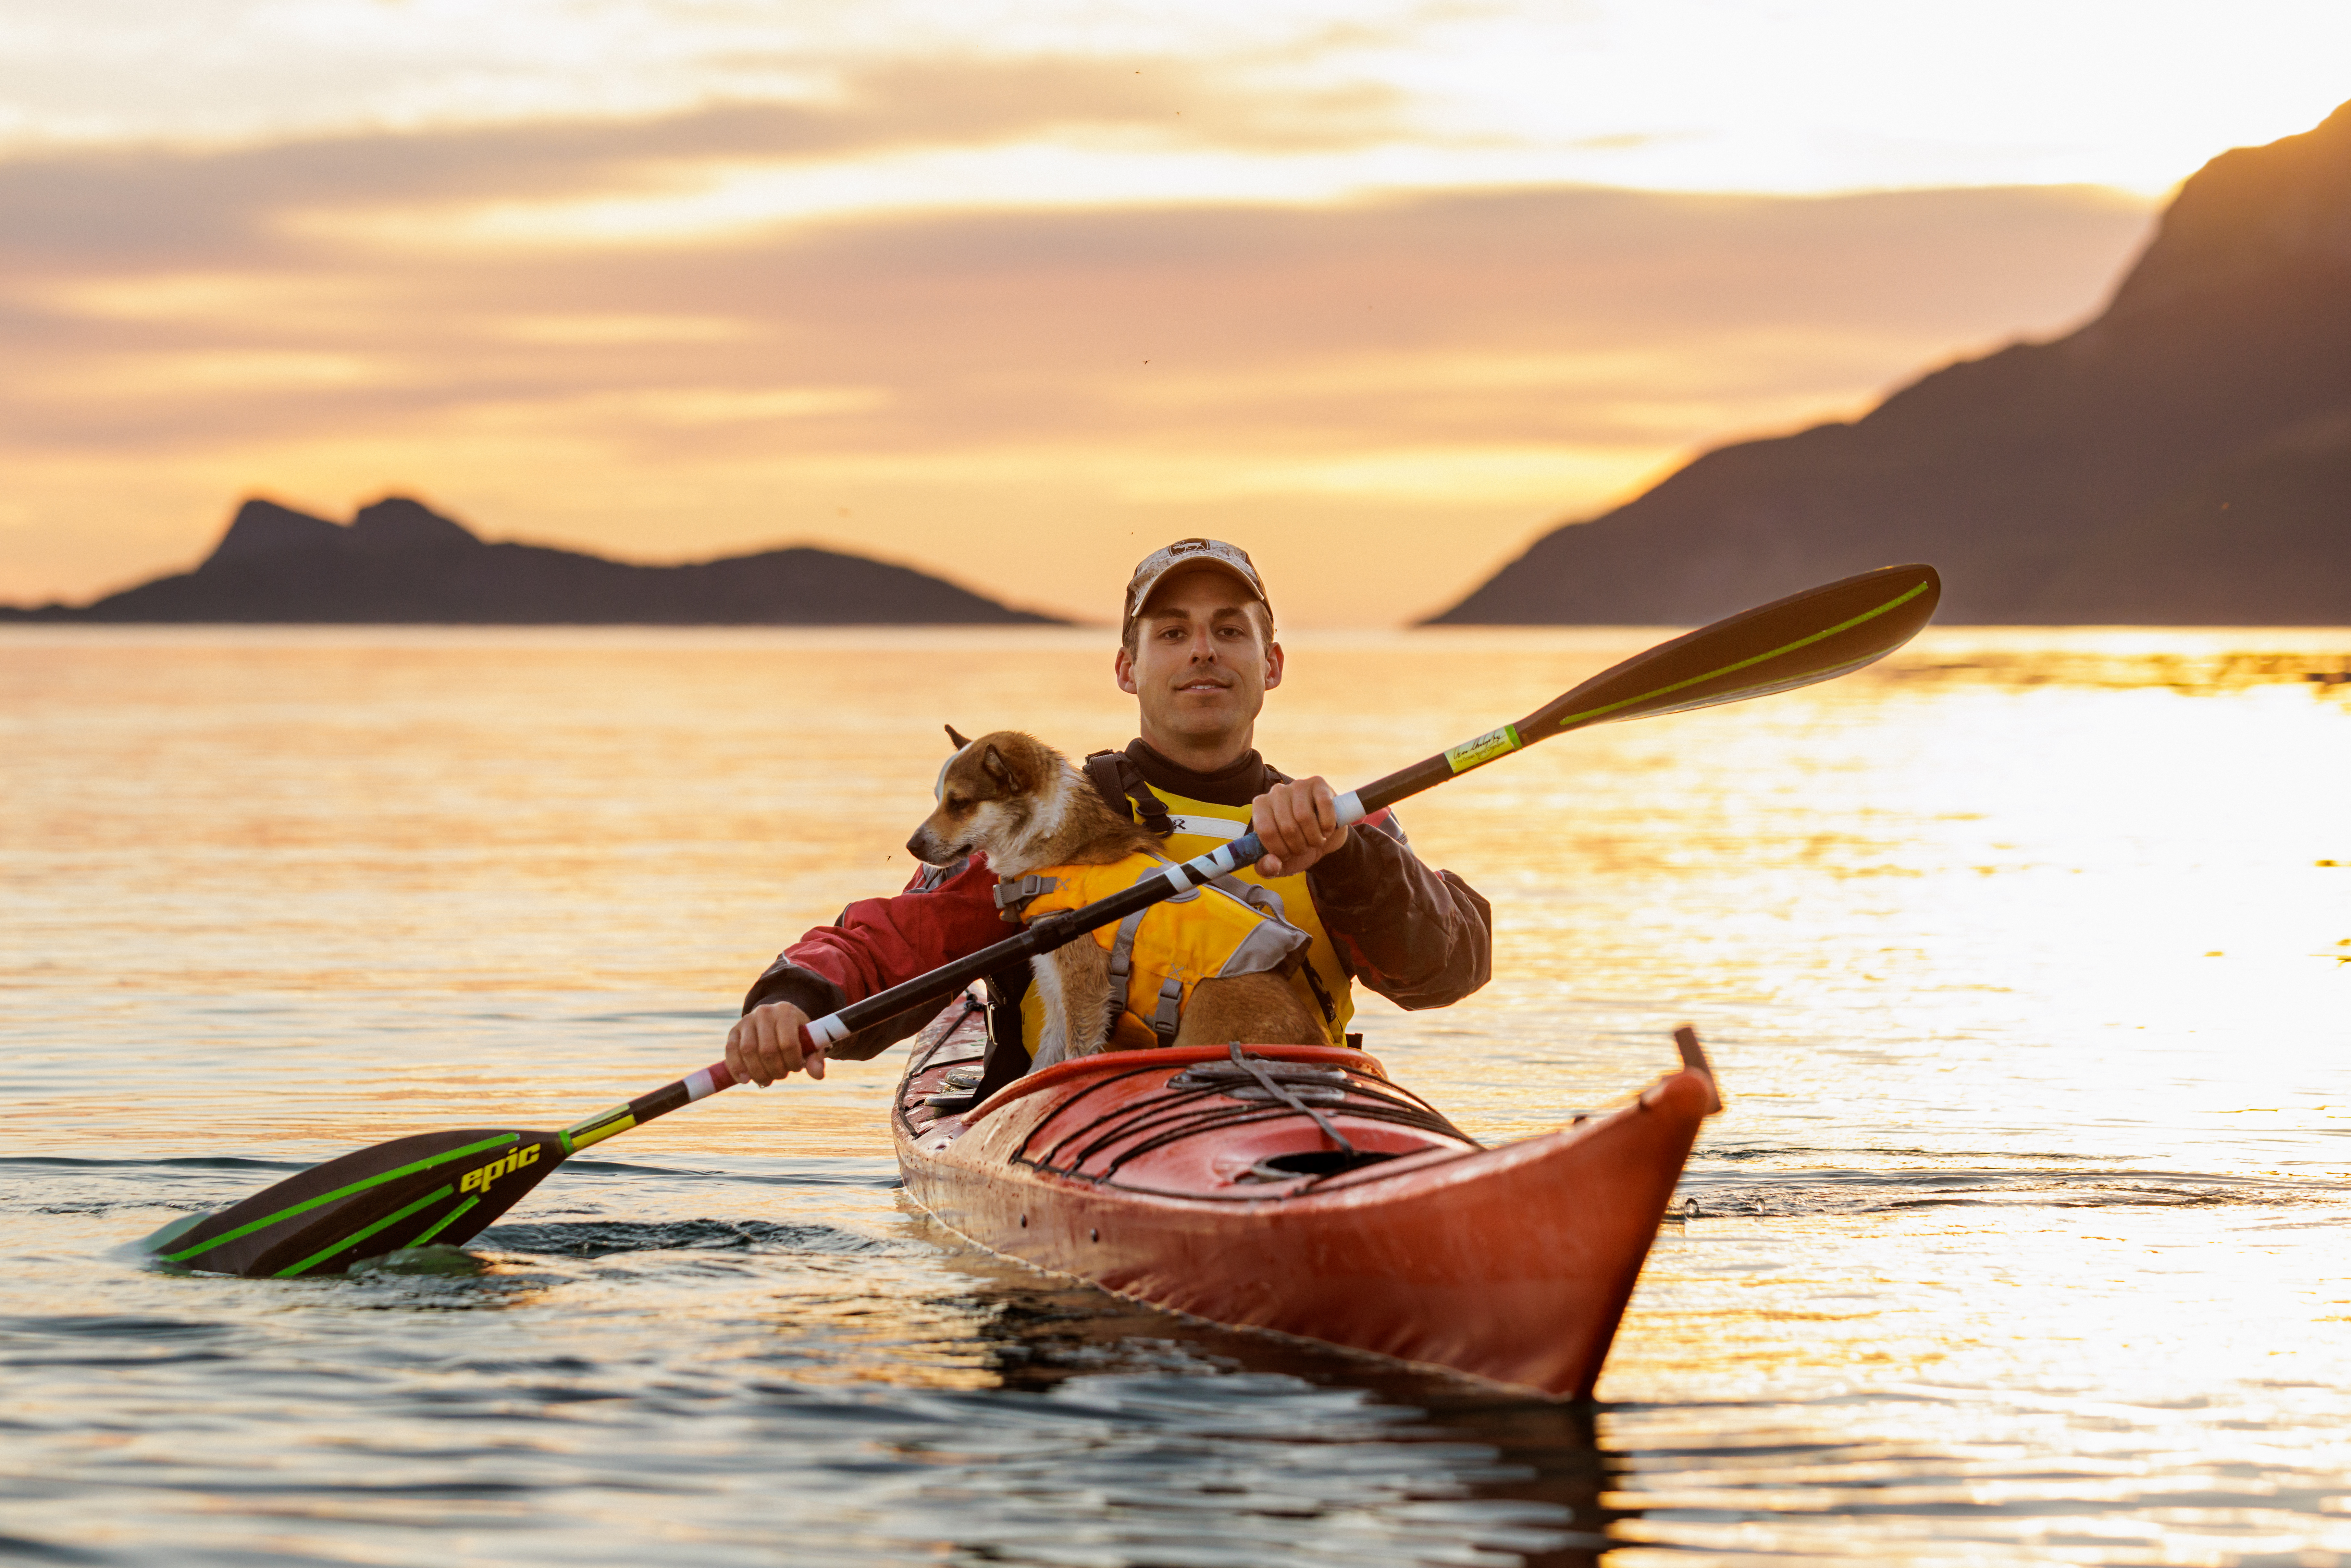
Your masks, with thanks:
[[[1933,567],[1886,567],[1742,611],[1601,670],[1516,724],[1342,795],[1338,816],[1359,823],[1570,729],[1737,703],[1860,670],[1909,642],[1940,597]],[[811,1020],[804,1046],[820,1053],[856,1030],[943,1001],[983,976],[1230,875],[1262,853],[1258,835],[1246,832],[1124,893],[1049,914],[1020,936]],[[174,1220],[143,1246],[190,1269],[277,1279],[341,1274],[362,1258],[409,1246],[463,1246],[571,1154],[729,1086],[734,1074],[726,1063],[712,1063],[560,1133],[470,1128],[395,1138],[329,1159],[219,1213]]]

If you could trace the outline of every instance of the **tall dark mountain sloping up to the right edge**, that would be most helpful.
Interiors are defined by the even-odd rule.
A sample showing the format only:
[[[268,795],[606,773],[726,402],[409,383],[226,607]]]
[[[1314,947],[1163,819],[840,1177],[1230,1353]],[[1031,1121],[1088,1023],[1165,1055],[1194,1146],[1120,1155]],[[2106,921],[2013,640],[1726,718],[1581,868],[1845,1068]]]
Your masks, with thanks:
[[[1956,623],[2351,621],[2351,103],[2208,162],[2088,327],[1709,451],[1432,623],[1693,625],[1911,559]]]

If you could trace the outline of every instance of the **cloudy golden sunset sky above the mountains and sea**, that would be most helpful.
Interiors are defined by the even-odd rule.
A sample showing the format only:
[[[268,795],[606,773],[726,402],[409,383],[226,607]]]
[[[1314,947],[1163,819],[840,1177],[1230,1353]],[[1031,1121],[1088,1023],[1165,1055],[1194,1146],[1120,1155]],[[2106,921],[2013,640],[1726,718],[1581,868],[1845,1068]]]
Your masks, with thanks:
[[[1387,625],[2346,96],[2342,0],[0,0],[0,599],[402,491]]]

